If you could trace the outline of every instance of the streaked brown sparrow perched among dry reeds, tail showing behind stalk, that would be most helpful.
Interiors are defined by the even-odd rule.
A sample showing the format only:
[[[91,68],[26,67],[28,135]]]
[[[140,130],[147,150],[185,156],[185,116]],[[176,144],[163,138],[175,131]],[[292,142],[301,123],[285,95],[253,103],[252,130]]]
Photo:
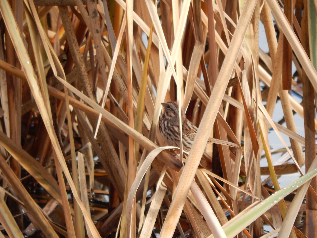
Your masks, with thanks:
[[[159,131],[168,145],[179,147],[178,104],[176,102],[167,102],[161,104],[164,107],[164,114],[159,122]],[[198,128],[186,118],[183,108],[181,108],[181,116],[183,150],[189,152],[194,142]],[[238,147],[235,143],[214,138],[209,138],[208,142]]]

